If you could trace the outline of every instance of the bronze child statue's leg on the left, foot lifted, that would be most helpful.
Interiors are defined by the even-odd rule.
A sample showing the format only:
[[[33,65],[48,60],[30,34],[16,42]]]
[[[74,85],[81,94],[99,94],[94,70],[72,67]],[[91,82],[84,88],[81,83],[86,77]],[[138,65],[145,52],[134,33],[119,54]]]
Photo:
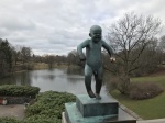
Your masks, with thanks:
[[[95,93],[91,90],[91,77],[92,77],[92,69],[86,64],[85,66],[85,85],[87,92],[90,98],[95,98]]]

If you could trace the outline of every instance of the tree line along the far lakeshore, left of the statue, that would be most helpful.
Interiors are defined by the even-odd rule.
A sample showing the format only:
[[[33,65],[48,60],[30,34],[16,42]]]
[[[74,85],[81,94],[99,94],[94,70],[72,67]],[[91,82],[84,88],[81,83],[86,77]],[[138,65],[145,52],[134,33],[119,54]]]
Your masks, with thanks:
[[[0,78],[10,72],[14,72],[15,66],[21,66],[21,70],[33,69],[30,68],[32,63],[45,63],[48,65],[48,68],[53,68],[55,64],[76,65],[77,60],[75,60],[74,52],[68,53],[67,56],[35,55],[31,47],[12,46],[7,38],[0,38]]]

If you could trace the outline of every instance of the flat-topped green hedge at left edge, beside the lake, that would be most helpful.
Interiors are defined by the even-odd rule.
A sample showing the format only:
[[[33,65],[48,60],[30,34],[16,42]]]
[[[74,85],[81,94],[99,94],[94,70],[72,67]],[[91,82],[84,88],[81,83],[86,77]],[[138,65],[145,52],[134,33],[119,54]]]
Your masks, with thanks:
[[[40,92],[38,87],[2,85],[0,86],[0,96],[28,96],[35,97]]]

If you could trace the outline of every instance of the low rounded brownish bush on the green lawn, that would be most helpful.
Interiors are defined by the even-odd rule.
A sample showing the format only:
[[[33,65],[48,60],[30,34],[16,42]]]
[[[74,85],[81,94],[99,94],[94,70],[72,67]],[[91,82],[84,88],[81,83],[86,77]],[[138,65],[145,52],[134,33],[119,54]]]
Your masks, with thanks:
[[[135,100],[148,99],[158,96],[161,92],[163,92],[163,88],[160,87],[157,83],[132,83],[130,90],[130,98]]]

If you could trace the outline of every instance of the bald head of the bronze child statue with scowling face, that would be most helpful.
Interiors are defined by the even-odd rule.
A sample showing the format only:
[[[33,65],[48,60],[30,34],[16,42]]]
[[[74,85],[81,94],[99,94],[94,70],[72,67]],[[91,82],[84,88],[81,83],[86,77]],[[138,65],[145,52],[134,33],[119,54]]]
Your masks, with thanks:
[[[99,25],[92,25],[90,27],[89,36],[95,43],[99,42],[102,37],[102,29]]]

